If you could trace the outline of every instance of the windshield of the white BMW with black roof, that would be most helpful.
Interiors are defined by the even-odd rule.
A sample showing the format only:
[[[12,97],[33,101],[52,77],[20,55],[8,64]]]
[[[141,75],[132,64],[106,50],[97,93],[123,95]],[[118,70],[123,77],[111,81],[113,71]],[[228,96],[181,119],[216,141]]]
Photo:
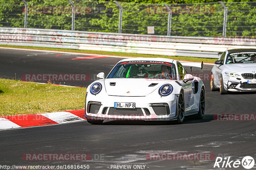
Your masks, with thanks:
[[[255,63],[256,52],[231,53],[227,57],[226,64]]]

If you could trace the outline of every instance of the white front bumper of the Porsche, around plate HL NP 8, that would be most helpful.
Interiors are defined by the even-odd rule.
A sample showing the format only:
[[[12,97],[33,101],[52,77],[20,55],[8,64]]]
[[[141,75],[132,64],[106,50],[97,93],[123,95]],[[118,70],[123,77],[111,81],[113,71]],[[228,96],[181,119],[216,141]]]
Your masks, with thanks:
[[[85,117],[92,120],[175,120],[178,97],[169,96],[86,96]],[[115,102],[135,103],[136,108],[115,108]]]

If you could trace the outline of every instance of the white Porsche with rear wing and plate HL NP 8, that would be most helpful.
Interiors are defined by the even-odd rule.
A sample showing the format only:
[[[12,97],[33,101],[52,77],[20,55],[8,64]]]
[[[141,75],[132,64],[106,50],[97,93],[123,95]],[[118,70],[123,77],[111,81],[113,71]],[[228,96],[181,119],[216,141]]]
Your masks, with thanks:
[[[203,62],[183,63],[203,68]],[[177,60],[131,58],[120,60],[107,78],[103,72],[86,91],[87,122],[104,120],[176,120],[204,117],[205,88],[199,77],[188,74]]]

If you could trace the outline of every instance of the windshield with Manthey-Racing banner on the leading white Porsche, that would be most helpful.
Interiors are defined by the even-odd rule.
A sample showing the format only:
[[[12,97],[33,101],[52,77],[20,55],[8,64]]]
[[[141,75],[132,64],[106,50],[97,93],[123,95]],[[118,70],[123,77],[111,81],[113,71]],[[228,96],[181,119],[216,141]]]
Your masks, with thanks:
[[[158,61],[126,61],[114,67],[107,78],[148,78],[177,80],[173,63]]]

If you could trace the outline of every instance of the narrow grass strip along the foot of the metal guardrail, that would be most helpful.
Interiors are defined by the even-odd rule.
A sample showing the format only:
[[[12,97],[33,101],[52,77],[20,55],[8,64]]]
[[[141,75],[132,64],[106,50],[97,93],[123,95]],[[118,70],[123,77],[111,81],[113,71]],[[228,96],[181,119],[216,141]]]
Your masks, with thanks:
[[[36,50],[52,50],[52,51],[63,51],[63,52],[88,53],[88,54],[99,54],[99,55],[116,55],[116,56],[124,56],[124,57],[163,57],[163,58],[171,58],[171,59],[175,59],[175,60],[179,60],[179,61],[191,61],[191,62],[204,61],[204,63],[214,63],[217,60],[217,59],[199,58],[199,57],[149,55],[149,54],[120,53],[120,52],[93,51],[93,50],[74,50],[74,49],[66,49],[66,48],[9,46],[9,45],[0,45],[0,46],[12,47],[12,48],[36,49]]]

